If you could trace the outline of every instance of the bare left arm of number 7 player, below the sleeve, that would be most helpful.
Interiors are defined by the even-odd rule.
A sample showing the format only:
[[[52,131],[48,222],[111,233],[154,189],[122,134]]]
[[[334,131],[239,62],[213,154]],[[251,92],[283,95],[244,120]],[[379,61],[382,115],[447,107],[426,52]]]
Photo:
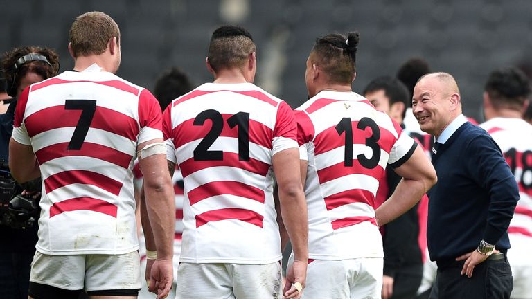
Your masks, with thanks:
[[[31,146],[18,143],[13,138],[9,141],[9,169],[19,183],[26,183],[41,176],[39,163]]]

